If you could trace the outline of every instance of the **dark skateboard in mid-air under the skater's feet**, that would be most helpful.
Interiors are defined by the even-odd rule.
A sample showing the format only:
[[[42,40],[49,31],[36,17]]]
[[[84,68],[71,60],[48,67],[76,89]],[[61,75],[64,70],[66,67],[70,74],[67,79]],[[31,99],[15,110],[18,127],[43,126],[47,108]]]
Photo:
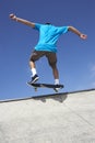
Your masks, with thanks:
[[[58,92],[58,89],[62,89],[64,86],[63,85],[51,85],[51,84],[29,84],[27,82],[29,86],[32,86],[35,91],[37,91],[37,88],[52,88],[56,92]]]

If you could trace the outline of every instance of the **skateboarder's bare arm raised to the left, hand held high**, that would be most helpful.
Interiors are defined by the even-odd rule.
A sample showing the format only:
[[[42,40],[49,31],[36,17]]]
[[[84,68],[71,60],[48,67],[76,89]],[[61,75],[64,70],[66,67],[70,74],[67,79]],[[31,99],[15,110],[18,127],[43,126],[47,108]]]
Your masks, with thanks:
[[[24,20],[24,19],[21,19],[21,18],[17,18],[17,16],[14,15],[14,14],[10,14],[10,18],[11,18],[12,20],[16,21],[16,22],[21,22],[21,23],[23,23],[23,24],[26,24],[26,25],[29,25],[29,26],[32,26],[32,28],[35,28],[35,23],[29,22],[29,21]]]

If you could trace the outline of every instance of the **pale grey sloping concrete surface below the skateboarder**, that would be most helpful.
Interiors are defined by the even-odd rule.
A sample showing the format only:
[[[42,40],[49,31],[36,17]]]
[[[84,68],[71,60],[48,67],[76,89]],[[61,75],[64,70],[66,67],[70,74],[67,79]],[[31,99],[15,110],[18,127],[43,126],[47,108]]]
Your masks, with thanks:
[[[95,90],[0,101],[0,143],[95,143]]]

